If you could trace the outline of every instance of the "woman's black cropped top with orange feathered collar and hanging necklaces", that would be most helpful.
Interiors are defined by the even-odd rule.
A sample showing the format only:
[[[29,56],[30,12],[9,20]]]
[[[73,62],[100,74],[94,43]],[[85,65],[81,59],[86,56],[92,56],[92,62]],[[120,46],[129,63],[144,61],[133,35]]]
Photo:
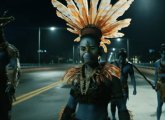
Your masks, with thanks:
[[[82,77],[82,68],[72,68],[64,76],[64,81],[72,84],[70,94],[79,103],[108,103],[113,92],[112,80],[120,81],[119,68],[108,64],[100,65],[90,79]]]

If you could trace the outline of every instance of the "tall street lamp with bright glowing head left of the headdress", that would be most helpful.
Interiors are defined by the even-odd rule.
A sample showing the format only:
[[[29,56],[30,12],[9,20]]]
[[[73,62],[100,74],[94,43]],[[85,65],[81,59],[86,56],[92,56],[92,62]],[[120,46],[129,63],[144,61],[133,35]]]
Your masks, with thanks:
[[[54,31],[56,28],[55,27],[50,27],[49,28],[51,31]],[[41,63],[41,27],[38,28],[38,65],[40,66]],[[45,50],[46,52],[46,50]]]

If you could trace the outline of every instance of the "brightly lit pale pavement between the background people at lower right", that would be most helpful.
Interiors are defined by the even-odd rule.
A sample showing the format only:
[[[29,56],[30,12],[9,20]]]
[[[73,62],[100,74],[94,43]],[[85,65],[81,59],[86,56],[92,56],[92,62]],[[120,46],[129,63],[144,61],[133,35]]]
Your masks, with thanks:
[[[134,120],[156,120],[157,96],[150,86],[137,86],[137,95],[132,95],[130,88],[130,99],[128,109],[132,111]],[[165,107],[162,107],[161,120],[165,120]]]

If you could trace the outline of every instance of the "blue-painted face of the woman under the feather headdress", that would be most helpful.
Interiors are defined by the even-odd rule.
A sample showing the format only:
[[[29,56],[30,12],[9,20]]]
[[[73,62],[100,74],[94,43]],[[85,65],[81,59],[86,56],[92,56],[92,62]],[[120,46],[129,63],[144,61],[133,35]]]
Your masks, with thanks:
[[[83,63],[92,64],[98,62],[99,45],[92,37],[84,37],[80,42],[80,57]]]

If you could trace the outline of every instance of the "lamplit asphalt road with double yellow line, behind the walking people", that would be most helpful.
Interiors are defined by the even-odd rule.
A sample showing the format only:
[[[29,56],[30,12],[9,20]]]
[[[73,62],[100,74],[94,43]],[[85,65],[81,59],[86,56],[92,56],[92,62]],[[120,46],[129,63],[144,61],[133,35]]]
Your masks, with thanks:
[[[12,120],[58,120],[58,113],[65,106],[69,95],[69,88],[62,87],[59,81],[68,68],[62,65],[23,72],[17,88],[17,101],[13,103]],[[134,120],[156,120],[156,93],[139,74],[135,74],[137,95],[132,95],[130,85],[128,108]],[[146,75],[150,80],[153,79],[152,72]]]

